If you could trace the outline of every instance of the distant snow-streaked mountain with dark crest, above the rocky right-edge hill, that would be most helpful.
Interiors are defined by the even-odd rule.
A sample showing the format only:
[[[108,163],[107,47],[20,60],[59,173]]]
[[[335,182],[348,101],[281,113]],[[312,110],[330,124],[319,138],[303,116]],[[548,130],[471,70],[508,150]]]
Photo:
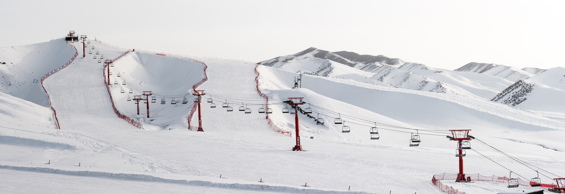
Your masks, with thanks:
[[[483,73],[488,75],[497,76],[510,80],[511,82],[518,82],[518,80],[527,79],[534,74],[528,73],[524,70],[518,69],[514,66],[497,65],[497,64],[484,64],[479,62],[470,62],[454,71],[471,71],[475,73]]]

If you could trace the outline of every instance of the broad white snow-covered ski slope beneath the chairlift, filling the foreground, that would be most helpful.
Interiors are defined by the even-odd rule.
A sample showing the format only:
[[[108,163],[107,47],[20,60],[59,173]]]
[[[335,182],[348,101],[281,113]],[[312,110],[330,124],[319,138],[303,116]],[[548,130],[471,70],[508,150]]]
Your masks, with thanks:
[[[104,59],[124,53],[90,42],[87,48],[94,46],[91,50],[98,51]],[[81,44],[75,46],[80,48]],[[102,186],[82,187],[81,191],[92,192],[113,192],[104,189],[110,187],[118,192],[439,194],[443,192],[431,184],[432,176],[458,170],[455,142],[448,141],[444,134],[448,129],[472,129],[473,136],[489,145],[557,174],[565,172],[560,139],[565,134],[560,121],[472,96],[399,89],[347,78],[303,75],[302,88],[292,89],[293,78],[298,76],[295,71],[237,62],[203,61],[208,66],[208,80],[197,89],[206,93],[200,103],[204,132],[186,129],[188,123],[184,121],[188,108],[194,106],[192,103],[174,106],[168,101],[166,105],[150,103],[150,111],[155,115],[149,120],[143,119],[142,114],[136,118],[146,128],[139,129],[115,115],[103,82],[103,63],[98,63],[99,58],[93,58],[94,55],[77,57],[73,64],[44,81],[57,111],[60,130],[49,125],[49,109],[37,109],[38,105],[28,101],[0,96],[3,103],[13,104],[20,111],[0,115],[0,153],[4,156],[0,165],[25,167],[16,172],[0,169],[10,177],[2,179],[10,183],[7,191],[36,192],[46,188],[45,192],[76,192],[74,184],[65,182],[79,180]],[[114,65],[113,75],[122,74],[120,79],[125,79],[136,93],[186,93],[203,78],[202,65],[168,56],[131,52]],[[267,124],[267,115],[258,113],[266,102],[255,88],[256,67],[259,89],[267,94],[273,109],[269,118],[288,129],[290,137],[273,130]],[[118,109],[136,117],[133,101],[124,100],[128,93],[120,93],[124,86],[111,86]],[[313,119],[299,114],[303,152],[291,151],[295,145],[294,115],[281,113],[286,107],[282,102],[288,97],[305,97],[306,102],[317,106],[314,111],[322,112],[320,116],[327,122],[316,125]],[[207,98],[216,107],[210,107]],[[234,111],[221,107],[224,102]],[[145,112],[145,104],[140,105],[141,112]],[[251,109],[251,114],[239,111],[240,106]],[[345,124],[351,127],[350,133],[342,133],[342,125],[332,123],[337,117],[335,113],[341,113]],[[36,118],[44,121],[32,123]],[[197,118],[192,117],[193,126],[198,125]],[[353,119],[378,123],[381,138],[369,139],[368,129],[373,125],[354,124],[360,121]],[[553,125],[544,127],[530,124],[531,121]],[[408,147],[411,133],[416,132],[412,129],[420,129],[422,142],[418,147]],[[520,175],[536,175],[483,143],[472,143],[475,151],[468,150],[464,157],[466,173],[508,173],[483,154]],[[79,163],[81,166],[77,166]],[[41,169],[50,174],[27,168],[50,168]],[[96,173],[81,175],[84,171]],[[108,179],[112,177],[110,173],[133,174],[134,178]],[[137,179],[139,174],[155,177],[151,179],[210,183],[195,186],[140,181],[144,179]],[[219,175],[227,179],[219,179]],[[37,178],[37,187],[21,184],[20,180],[28,176]],[[42,183],[49,177],[62,181]],[[260,179],[265,183],[251,184]],[[311,190],[301,190],[305,183],[311,187],[304,188]],[[263,190],[275,186],[282,189]],[[351,191],[347,191],[349,187]],[[480,186],[468,193],[494,193],[494,187]]]

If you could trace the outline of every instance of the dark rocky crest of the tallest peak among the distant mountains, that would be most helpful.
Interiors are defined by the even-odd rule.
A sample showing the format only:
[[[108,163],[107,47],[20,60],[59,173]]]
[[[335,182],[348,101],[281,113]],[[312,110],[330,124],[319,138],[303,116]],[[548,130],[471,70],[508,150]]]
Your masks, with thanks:
[[[286,55],[286,56],[280,56],[280,57],[276,57],[276,58],[272,58],[270,60],[267,61],[262,61],[261,65],[265,65],[265,66],[280,66],[280,64],[284,64],[286,62],[293,62],[293,61],[299,61],[299,60],[303,60],[305,58],[323,58],[323,59],[327,59],[327,60],[332,60],[335,62],[338,62],[340,64],[344,64],[347,66],[355,66],[355,62],[352,62],[350,60],[347,60],[344,57],[341,57],[339,55],[336,55],[332,52],[329,51],[324,51],[322,49],[318,49],[318,48],[314,48],[314,47],[310,47],[302,52],[298,52],[295,53],[293,55]]]

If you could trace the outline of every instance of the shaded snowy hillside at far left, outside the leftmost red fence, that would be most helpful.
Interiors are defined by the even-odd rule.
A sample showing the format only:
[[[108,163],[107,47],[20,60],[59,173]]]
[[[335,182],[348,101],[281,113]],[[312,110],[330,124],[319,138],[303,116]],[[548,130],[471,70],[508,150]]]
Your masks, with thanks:
[[[41,77],[74,55],[75,49],[64,39],[0,48],[0,92],[48,107]]]

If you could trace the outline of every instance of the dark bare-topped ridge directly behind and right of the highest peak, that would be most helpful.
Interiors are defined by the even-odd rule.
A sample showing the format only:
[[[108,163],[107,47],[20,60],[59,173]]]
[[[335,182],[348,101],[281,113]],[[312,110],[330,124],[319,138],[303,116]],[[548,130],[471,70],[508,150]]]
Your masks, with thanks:
[[[390,58],[384,55],[379,55],[379,56],[359,55],[358,53],[348,52],[348,51],[338,51],[333,53],[341,57],[347,58],[347,60],[359,63],[358,66],[356,66],[356,68],[358,69],[364,68],[364,66],[362,65],[369,66],[371,64],[386,64],[393,67],[399,67],[406,63],[406,61],[403,61],[400,58]]]

